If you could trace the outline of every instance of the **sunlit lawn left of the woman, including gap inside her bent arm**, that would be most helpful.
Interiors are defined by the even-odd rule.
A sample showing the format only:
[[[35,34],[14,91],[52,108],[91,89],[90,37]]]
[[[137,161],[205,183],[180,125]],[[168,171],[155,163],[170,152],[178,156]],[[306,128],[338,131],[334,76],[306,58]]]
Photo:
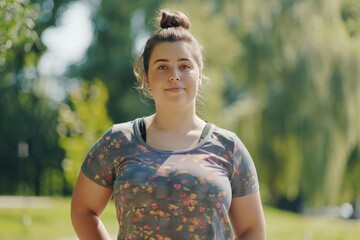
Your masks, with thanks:
[[[116,235],[115,208],[109,204],[102,220]],[[51,198],[44,208],[0,208],[1,240],[76,239],[70,220],[70,198]]]

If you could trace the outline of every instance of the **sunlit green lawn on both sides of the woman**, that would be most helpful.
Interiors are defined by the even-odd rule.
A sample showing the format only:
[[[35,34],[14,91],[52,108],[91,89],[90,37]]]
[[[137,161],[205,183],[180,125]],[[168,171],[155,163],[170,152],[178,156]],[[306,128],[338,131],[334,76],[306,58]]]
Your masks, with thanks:
[[[69,198],[52,198],[44,208],[0,208],[2,240],[73,240]],[[360,239],[360,221],[302,216],[265,207],[269,240]],[[102,220],[111,235],[117,232],[115,208],[106,208]]]

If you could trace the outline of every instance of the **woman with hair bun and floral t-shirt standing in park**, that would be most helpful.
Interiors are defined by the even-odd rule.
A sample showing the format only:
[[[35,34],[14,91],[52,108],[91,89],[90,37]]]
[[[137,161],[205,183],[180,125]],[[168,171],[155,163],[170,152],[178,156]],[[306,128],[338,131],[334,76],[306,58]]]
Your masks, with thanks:
[[[112,195],[118,239],[265,239],[249,153],[196,114],[205,77],[189,26],[183,13],[161,12],[134,67],[155,113],[114,125],[86,156],[71,207],[80,239],[110,239],[100,215]]]

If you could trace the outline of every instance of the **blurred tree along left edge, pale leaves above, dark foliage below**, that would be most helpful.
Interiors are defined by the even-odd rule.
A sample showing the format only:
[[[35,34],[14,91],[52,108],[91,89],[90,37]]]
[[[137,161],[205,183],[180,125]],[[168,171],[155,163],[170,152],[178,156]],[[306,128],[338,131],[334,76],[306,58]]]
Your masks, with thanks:
[[[57,110],[43,94],[36,68],[44,50],[39,33],[54,19],[44,21],[43,11],[35,2],[0,1],[1,194],[66,191]]]

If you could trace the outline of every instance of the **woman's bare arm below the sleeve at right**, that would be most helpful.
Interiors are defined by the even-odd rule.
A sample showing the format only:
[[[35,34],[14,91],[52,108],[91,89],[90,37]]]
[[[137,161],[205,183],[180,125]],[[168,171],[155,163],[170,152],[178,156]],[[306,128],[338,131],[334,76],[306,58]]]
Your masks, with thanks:
[[[266,239],[259,191],[233,198],[229,215],[237,239]]]

